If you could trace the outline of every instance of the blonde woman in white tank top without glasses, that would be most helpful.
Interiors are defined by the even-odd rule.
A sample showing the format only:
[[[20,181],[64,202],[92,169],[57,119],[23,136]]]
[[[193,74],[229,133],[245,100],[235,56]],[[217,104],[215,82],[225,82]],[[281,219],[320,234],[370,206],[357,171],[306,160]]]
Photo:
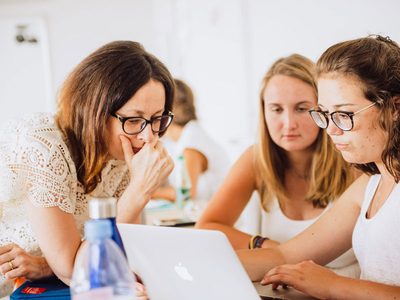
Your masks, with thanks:
[[[292,54],[269,68],[260,90],[257,141],[233,165],[197,228],[223,231],[235,249],[273,247],[312,224],[354,180],[307,112],[317,103],[313,67]],[[233,227],[254,190],[261,199],[261,236]],[[327,266],[359,275],[351,249]]]

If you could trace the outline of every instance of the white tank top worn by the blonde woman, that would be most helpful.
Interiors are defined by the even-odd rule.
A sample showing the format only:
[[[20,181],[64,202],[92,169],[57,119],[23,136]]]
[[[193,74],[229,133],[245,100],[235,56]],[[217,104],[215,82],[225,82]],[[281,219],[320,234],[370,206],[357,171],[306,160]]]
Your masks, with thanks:
[[[319,216],[328,210],[332,204],[333,203],[329,203]],[[290,219],[283,214],[279,207],[277,198],[274,198],[271,201],[268,210],[269,211],[266,212],[261,209],[261,235],[277,240],[280,243],[296,236],[319,217],[317,216],[308,220]],[[325,266],[342,276],[353,278],[359,277],[360,269],[352,249],[349,249]]]

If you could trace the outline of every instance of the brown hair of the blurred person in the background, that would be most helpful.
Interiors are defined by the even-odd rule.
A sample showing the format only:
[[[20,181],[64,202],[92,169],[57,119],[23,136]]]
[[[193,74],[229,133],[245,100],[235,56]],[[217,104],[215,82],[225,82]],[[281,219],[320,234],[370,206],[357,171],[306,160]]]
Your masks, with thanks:
[[[173,102],[173,120],[176,125],[184,126],[190,120],[196,120],[196,108],[191,88],[180,79],[175,81],[175,100]]]

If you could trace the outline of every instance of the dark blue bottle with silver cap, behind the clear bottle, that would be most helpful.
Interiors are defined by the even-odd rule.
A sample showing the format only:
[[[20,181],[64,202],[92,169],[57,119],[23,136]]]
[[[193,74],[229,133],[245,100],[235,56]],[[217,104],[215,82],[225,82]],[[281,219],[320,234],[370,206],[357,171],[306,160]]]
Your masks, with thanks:
[[[114,197],[93,198],[89,202],[89,216],[93,220],[109,219],[111,221],[112,236],[111,239],[121,248],[126,256],[125,248],[123,247],[121,236],[116,227],[116,199]]]

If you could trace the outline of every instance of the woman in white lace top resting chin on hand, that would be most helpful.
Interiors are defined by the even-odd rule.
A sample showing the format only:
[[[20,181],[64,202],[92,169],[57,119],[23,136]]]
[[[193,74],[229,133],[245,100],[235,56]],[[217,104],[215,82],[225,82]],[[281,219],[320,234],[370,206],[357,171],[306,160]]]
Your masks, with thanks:
[[[1,128],[0,295],[16,277],[54,273],[69,283],[92,197],[117,197],[117,221],[140,221],[173,168],[158,140],[173,97],[172,77],[156,57],[137,42],[114,41],[72,70],[54,116]]]

